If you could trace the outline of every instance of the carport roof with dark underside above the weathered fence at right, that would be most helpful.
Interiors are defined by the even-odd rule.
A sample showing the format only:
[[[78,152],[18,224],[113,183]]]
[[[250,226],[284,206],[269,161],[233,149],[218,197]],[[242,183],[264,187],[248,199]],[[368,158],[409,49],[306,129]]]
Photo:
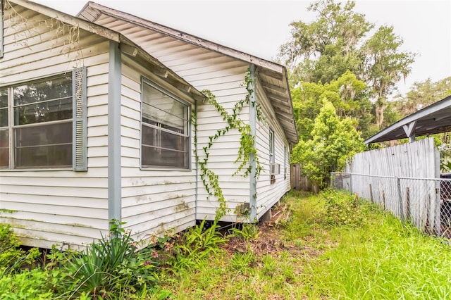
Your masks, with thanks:
[[[381,130],[365,144],[451,131],[451,95]]]

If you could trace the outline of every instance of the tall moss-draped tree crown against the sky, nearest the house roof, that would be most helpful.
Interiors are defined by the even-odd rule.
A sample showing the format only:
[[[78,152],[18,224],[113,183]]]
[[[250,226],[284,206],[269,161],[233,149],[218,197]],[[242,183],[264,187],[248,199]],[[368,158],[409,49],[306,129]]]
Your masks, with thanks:
[[[290,68],[292,82],[330,82],[346,70],[359,70],[357,44],[373,25],[354,6],[318,1],[307,8],[317,13],[314,22],[290,24],[292,39],[280,47],[279,58]]]

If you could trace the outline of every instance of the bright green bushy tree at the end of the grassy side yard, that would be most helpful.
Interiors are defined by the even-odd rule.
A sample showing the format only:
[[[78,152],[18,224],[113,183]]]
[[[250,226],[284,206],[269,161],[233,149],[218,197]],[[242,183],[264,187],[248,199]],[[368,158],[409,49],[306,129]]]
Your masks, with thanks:
[[[295,146],[292,163],[300,163],[309,180],[321,188],[326,187],[330,172],[341,170],[348,158],[364,150],[355,124],[350,118],[340,120],[333,104],[323,99],[323,107],[311,130],[312,138]]]

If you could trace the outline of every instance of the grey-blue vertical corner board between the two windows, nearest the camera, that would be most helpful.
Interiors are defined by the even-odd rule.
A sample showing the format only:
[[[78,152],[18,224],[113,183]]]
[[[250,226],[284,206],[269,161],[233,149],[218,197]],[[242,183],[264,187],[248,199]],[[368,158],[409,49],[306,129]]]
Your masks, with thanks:
[[[108,218],[121,221],[121,50],[110,41],[108,76]]]

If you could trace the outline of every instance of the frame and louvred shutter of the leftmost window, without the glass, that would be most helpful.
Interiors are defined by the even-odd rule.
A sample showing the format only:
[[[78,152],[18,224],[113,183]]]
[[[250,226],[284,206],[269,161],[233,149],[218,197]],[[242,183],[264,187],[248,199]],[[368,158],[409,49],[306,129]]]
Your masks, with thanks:
[[[4,171],[35,171],[35,170],[74,170],[85,171],[87,170],[87,93],[86,93],[86,67],[70,70],[69,72],[59,72],[51,75],[45,75],[35,77],[27,80],[20,80],[20,82],[12,82],[8,85],[0,86],[0,89],[6,89],[7,96],[7,109],[8,109],[8,124],[6,127],[1,127],[1,130],[8,131],[8,167],[0,168],[0,172]],[[72,94],[68,96],[71,99],[72,106],[72,118],[66,118],[61,120],[50,120],[40,123],[31,123],[23,125],[14,124],[14,108],[18,107],[14,105],[13,89],[21,85],[32,85],[35,82],[50,80],[52,78],[70,76],[72,85]],[[80,90],[78,90],[80,89]],[[78,92],[76,92],[78,91]],[[38,166],[25,166],[17,167],[17,149],[16,149],[16,137],[15,130],[20,130],[27,127],[39,127],[47,125],[56,125],[62,123],[69,123],[72,129],[71,143],[72,155],[70,155],[70,163],[68,165],[38,165]],[[63,143],[68,144],[68,143]],[[38,145],[39,146],[39,145]],[[47,145],[48,146],[48,145]],[[77,154],[78,159],[75,159]],[[80,154],[81,159],[80,159]]]

